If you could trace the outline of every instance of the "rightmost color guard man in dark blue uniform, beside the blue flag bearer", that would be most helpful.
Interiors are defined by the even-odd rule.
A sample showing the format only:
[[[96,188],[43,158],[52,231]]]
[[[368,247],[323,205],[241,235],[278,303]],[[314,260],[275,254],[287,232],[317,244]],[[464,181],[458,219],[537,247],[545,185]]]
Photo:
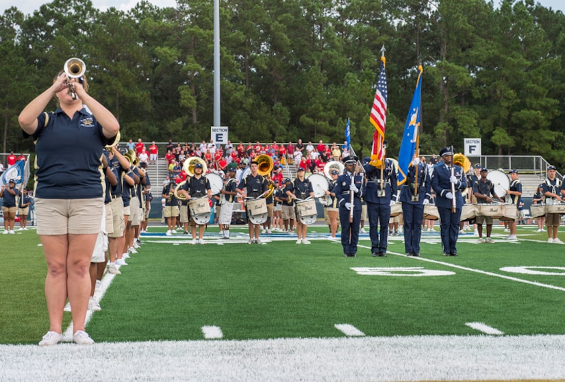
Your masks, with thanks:
[[[453,164],[451,147],[441,149],[440,156],[442,162],[436,164],[431,173],[431,188],[436,192],[436,206],[441,219],[443,255],[457,256],[457,235],[464,203],[461,192],[467,187],[467,182],[463,168]]]

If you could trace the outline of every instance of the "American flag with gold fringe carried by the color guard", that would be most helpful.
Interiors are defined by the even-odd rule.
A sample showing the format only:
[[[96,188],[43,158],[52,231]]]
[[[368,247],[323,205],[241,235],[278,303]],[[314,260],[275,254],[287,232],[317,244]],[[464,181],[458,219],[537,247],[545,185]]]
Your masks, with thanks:
[[[373,166],[381,166],[384,161],[384,131],[386,126],[386,104],[388,102],[388,92],[386,90],[386,73],[385,58],[381,56],[381,75],[379,75],[379,83],[377,84],[377,92],[371,109],[369,119],[375,126],[375,134],[373,134],[373,150],[371,151],[371,164]]]

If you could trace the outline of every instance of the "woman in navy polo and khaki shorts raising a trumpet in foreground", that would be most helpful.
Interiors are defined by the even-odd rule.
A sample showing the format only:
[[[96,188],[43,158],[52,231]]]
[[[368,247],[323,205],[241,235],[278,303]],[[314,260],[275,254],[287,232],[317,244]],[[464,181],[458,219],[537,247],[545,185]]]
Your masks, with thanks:
[[[67,295],[72,307],[73,340],[77,344],[94,342],[84,331],[84,321],[90,296],[88,268],[104,205],[101,156],[120,129],[114,115],[88,95],[86,78],[77,81],[68,77],[68,73],[60,72],[53,85],[18,117],[24,137],[31,136],[36,142],[37,233],[47,260],[45,297],[49,311],[49,331],[40,346],[63,339]],[[58,109],[44,113],[53,97]]]

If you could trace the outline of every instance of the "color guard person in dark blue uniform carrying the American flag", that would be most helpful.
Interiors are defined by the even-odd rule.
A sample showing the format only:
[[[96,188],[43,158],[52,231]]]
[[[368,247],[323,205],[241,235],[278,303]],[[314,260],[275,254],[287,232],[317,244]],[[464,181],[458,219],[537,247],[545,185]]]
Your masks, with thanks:
[[[367,202],[371,253],[375,257],[386,257],[390,207],[398,201],[396,167],[389,158],[386,158],[384,162],[384,168],[376,168],[370,163],[365,165],[367,185],[364,199]],[[381,226],[380,233],[379,225]]]

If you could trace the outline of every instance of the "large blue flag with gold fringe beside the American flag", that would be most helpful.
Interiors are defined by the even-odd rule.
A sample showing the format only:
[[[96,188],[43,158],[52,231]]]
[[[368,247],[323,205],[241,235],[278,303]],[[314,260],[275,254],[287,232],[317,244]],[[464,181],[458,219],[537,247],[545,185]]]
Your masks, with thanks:
[[[404,127],[404,134],[402,136],[402,144],[400,145],[399,152],[399,186],[406,181],[408,167],[414,153],[416,152],[416,142],[418,141],[418,127],[420,127],[420,101],[422,94],[422,73],[423,68],[418,66],[418,81],[416,82],[416,90],[414,90],[414,97],[410,104],[410,111],[406,118],[406,125]]]

